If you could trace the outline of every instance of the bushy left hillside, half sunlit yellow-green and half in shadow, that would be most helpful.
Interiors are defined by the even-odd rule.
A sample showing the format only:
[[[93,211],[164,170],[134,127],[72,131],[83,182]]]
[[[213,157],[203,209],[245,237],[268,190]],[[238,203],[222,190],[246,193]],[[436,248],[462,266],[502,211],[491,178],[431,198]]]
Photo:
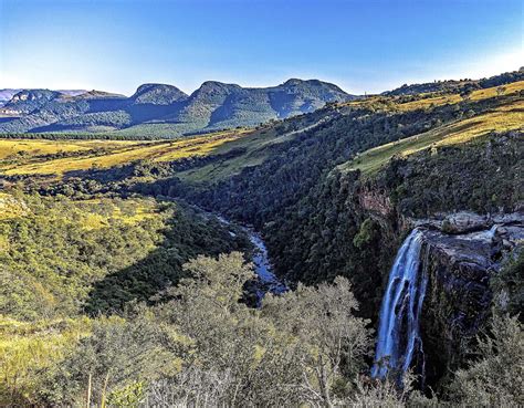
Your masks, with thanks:
[[[14,199],[27,210],[0,220],[0,312],[15,318],[74,316],[86,304],[97,313],[147,300],[176,282],[189,258],[240,244],[218,222],[212,229],[174,205]]]

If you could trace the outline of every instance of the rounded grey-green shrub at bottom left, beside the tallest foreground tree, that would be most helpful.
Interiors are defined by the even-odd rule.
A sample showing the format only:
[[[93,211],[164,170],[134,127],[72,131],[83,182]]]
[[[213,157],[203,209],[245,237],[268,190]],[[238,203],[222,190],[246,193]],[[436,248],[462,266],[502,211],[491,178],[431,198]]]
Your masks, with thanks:
[[[175,352],[178,342],[174,327],[164,327],[148,311],[130,321],[99,317],[93,322],[92,333],[46,372],[39,394],[59,406],[85,401],[87,395],[102,406],[104,401],[139,398],[142,381],[180,368]]]

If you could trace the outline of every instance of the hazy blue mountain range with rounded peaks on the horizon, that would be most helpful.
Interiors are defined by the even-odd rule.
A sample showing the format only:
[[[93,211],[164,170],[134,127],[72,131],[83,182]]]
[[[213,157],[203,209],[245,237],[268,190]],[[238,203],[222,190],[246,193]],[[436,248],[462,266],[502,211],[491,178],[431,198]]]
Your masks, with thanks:
[[[167,84],[140,85],[130,97],[99,91],[71,95],[23,90],[0,108],[11,115],[0,124],[0,133],[111,130],[174,137],[256,126],[353,98],[334,84],[296,79],[265,88],[208,81],[190,95]]]

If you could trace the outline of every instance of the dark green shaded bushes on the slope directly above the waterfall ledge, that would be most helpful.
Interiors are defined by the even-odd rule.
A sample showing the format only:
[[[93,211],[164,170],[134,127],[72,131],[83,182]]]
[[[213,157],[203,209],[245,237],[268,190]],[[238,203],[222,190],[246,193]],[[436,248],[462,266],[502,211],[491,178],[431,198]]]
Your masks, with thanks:
[[[476,142],[397,158],[377,175],[399,212],[513,211],[523,200],[522,132],[490,134]]]

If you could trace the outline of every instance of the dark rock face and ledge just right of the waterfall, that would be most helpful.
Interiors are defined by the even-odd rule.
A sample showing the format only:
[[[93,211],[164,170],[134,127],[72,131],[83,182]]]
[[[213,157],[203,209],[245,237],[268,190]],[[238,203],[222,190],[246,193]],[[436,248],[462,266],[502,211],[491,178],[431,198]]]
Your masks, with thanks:
[[[499,218],[468,213],[452,220],[453,232],[473,228],[476,232],[449,234],[433,224],[425,232],[421,251],[426,258],[421,268],[429,278],[420,327],[429,385],[468,354],[467,346],[490,313],[490,278],[524,238],[522,213]]]

